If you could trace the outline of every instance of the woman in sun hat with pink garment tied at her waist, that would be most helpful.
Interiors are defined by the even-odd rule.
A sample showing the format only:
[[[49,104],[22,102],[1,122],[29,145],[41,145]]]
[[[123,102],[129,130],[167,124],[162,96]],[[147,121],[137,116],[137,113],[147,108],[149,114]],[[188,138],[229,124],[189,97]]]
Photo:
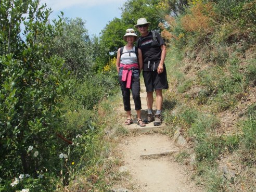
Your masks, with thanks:
[[[133,123],[131,117],[131,103],[130,103],[130,89],[132,89],[132,96],[137,112],[137,124],[145,126],[141,119],[142,103],[140,101],[140,82],[139,73],[142,71],[142,51],[135,47],[133,43],[137,40],[137,35],[133,29],[127,29],[123,36],[127,44],[118,49],[117,53],[117,71],[119,84],[123,95],[124,110],[127,114],[125,125]]]

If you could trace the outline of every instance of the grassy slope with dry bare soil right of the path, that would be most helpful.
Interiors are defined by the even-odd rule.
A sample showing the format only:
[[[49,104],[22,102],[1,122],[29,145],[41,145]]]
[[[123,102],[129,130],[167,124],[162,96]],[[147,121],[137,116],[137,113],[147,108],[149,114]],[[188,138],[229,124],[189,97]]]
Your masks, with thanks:
[[[188,164],[196,157],[195,179],[209,191],[256,191],[256,46],[238,40],[171,47],[165,62],[165,123],[170,135],[181,128],[190,148],[177,158]]]

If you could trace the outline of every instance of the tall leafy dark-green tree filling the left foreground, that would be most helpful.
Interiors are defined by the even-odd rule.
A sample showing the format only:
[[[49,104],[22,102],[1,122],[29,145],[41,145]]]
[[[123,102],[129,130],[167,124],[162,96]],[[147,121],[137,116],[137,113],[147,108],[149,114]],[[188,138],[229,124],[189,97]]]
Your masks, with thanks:
[[[69,85],[63,59],[51,50],[62,22],[49,24],[51,10],[39,0],[2,0],[0,7],[0,174],[5,191],[17,191],[10,183],[19,174],[31,175],[30,191],[49,191],[42,186],[50,178],[37,178],[48,173],[36,171],[58,170],[60,100]]]

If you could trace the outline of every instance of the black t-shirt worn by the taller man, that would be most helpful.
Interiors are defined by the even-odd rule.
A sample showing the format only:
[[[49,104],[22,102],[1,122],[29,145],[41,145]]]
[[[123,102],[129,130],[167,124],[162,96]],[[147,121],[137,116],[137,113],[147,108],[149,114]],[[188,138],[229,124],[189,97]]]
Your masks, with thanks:
[[[160,46],[164,45],[164,41],[158,32],[155,34],[157,42],[153,40],[151,31],[147,36],[140,36],[137,40],[137,47],[142,50],[144,71],[156,70],[161,59]]]

